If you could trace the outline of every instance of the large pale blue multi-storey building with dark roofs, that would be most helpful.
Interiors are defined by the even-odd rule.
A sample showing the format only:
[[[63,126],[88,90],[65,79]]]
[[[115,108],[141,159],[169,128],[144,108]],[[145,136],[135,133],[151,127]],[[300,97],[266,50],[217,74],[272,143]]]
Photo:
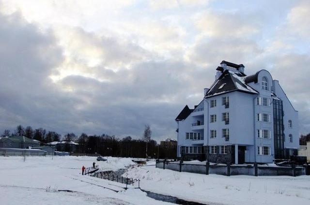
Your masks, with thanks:
[[[176,117],[177,156],[211,162],[272,162],[297,155],[298,112],[266,70],[222,61],[202,101]]]

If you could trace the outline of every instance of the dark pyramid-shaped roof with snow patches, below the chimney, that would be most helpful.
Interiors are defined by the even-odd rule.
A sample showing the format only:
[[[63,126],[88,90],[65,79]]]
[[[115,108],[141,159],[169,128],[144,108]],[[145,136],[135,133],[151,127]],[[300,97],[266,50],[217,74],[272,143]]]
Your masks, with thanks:
[[[245,83],[244,81],[245,77],[246,75],[244,73],[225,70],[221,74],[221,76],[216,80],[216,82],[212,85],[210,90],[206,93],[205,98],[213,97],[216,95],[232,91],[257,94],[258,92],[255,89],[251,88]]]

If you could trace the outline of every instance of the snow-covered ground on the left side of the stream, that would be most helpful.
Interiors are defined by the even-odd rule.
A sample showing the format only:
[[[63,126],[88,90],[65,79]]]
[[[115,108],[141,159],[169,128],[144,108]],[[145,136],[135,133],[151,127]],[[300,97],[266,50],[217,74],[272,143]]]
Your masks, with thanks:
[[[96,157],[0,157],[0,205],[157,205],[138,189],[123,190],[120,183],[82,176],[81,167],[92,166]],[[95,161],[103,170],[117,170],[133,164],[131,159]],[[99,185],[99,186],[96,186]],[[105,189],[103,187],[109,188]],[[72,190],[65,192],[58,190]]]

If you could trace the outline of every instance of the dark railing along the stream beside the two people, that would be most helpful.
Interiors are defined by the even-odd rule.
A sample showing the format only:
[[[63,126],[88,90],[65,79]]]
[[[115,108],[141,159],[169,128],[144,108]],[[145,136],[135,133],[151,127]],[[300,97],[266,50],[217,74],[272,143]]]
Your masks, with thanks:
[[[134,187],[136,184],[137,188],[140,189],[140,179],[134,179],[134,178],[124,178],[123,176],[114,175],[112,171],[106,171],[106,172],[95,172],[92,176],[107,179],[110,181],[115,181],[118,183],[126,184],[126,188],[128,188],[128,185],[131,185]]]

